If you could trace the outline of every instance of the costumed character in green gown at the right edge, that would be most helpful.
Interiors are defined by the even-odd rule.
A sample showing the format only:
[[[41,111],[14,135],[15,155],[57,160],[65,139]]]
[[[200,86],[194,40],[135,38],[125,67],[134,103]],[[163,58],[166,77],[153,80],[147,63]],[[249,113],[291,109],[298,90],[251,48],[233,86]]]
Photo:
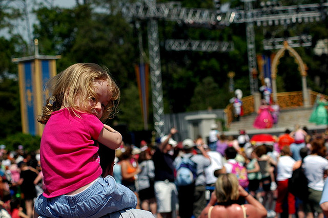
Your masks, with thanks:
[[[311,113],[309,122],[315,123],[317,125],[328,124],[328,114],[326,106],[328,102],[323,98],[321,94],[317,95],[316,101],[313,106],[313,111]]]

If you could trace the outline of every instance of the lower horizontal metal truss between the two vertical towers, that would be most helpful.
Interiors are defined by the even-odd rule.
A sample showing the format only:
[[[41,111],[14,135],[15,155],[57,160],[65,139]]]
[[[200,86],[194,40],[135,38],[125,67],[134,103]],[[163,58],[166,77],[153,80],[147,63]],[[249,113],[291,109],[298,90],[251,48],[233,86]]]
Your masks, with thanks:
[[[170,51],[229,52],[234,50],[232,41],[168,39],[165,49]]]

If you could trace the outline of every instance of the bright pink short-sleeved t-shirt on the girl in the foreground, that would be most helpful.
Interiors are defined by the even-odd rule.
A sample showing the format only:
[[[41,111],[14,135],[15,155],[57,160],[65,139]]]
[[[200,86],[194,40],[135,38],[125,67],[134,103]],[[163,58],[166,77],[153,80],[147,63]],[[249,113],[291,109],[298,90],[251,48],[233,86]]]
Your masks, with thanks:
[[[53,112],[40,143],[46,198],[74,191],[101,175],[95,140],[104,124],[94,115],[67,108]]]

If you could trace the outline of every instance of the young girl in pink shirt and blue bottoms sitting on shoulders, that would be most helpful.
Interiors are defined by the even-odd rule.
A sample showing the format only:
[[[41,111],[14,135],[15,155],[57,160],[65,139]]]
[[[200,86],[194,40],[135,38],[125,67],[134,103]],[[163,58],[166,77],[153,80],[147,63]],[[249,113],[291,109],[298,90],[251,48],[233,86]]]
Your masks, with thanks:
[[[100,217],[136,207],[135,194],[101,178],[98,143],[116,149],[121,135],[101,121],[115,113],[119,89],[104,68],[77,63],[48,82],[52,97],[38,121],[45,191],[35,212],[46,217]],[[101,121],[100,121],[101,120]]]

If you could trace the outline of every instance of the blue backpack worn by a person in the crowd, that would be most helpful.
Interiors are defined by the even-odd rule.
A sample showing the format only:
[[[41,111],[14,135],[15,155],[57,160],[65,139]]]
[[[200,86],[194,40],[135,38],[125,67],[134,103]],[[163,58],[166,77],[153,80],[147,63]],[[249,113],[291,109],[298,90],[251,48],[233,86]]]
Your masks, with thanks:
[[[197,164],[190,157],[182,157],[181,163],[176,167],[176,185],[187,186],[195,183]]]

